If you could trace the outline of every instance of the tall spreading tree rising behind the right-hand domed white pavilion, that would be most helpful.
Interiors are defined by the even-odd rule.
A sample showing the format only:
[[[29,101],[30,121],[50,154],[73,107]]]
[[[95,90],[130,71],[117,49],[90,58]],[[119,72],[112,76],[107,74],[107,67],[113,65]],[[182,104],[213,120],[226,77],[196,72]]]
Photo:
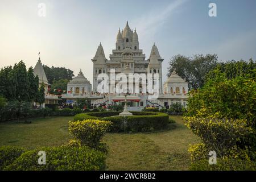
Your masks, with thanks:
[[[188,82],[189,89],[203,86],[207,73],[217,65],[217,55],[194,55],[192,57],[176,55],[170,60],[168,74],[174,71]]]

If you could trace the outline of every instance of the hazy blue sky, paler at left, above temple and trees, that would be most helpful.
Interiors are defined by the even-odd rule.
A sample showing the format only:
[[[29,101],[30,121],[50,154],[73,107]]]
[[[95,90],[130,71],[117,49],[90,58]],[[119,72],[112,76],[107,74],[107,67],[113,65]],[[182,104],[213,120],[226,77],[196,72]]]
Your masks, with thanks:
[[[39,3],[46,16],[38,15]],[[216,3],[217,16],[209,16],[209,3]],[[20,60],[34,67],[40,52],[43,64],[69,68],[75,76],[81,68],[92,82],[98,45],[109,59],[126,21],[136,27],[146,59],[155,42],[164,59],[163,81],[177,54],[256,60],[255,0],[0,0],[0,68]]]

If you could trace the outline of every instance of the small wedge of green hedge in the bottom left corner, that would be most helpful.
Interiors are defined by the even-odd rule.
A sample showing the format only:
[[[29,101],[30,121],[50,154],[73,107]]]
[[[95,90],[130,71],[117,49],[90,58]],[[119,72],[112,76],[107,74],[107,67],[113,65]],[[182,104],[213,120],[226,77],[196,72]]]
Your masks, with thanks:
[[[0,147],[0,170],[9,166],[26,150],[16,146],[1,146]]]

